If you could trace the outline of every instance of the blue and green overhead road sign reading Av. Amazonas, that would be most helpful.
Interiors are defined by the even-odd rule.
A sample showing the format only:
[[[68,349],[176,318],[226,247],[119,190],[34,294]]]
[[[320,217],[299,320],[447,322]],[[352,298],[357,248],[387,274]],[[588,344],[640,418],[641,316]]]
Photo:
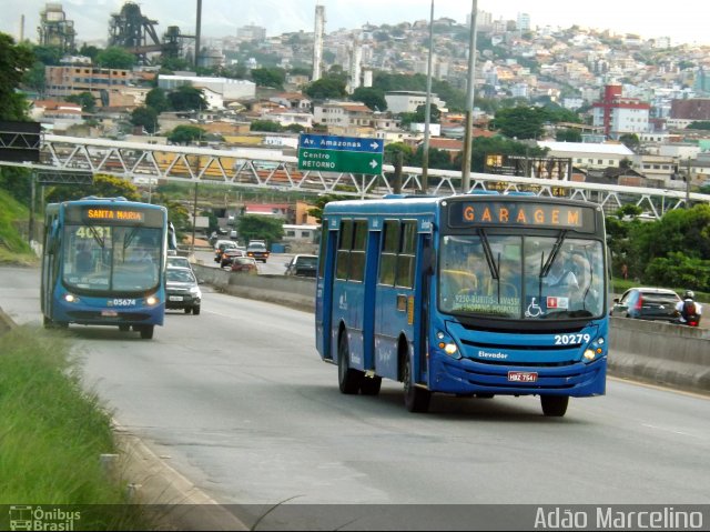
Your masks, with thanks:
[[[298,170],[382,173],[384,141],[304,133],[298,137]]]

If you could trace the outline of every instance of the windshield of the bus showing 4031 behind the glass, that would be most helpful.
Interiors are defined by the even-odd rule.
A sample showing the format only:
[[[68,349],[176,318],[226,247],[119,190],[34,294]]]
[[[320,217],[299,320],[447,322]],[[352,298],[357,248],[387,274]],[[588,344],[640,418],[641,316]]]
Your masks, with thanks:
[[[68,224],[63,282],[84,292],[146,292],[158,287],[161,229]]]

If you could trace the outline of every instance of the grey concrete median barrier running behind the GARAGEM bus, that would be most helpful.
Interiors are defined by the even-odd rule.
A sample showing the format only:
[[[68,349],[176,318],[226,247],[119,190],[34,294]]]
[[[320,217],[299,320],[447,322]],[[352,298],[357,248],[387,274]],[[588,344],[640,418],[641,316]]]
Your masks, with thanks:
[[[217,290],[313,312],[315,281],[193,265]],[[611,317],[609,374],[710,393],[710,330]]]

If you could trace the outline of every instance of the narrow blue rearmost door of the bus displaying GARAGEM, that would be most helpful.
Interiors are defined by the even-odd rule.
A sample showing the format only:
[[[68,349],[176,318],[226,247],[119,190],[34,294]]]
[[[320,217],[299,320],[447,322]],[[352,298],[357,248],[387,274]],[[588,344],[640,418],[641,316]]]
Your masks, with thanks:
[[[333,279],[335,278],[337,229],[337,223],[331,227],[328,220],[323,220],[315,298],[315,341],[316,349],[324,360],[333,360],[329,340],[333,327]]]

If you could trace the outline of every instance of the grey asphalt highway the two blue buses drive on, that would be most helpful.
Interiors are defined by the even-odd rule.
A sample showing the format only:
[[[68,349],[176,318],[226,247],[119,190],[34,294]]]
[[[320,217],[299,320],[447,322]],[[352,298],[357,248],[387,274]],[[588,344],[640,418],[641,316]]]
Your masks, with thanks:
[[[38,284],[0,269],[0,307],[39,325]],[[209,288],[202,309],[169,311],[152,341],[70,334],[85,385],[221,503],[710,504],[708,398],[610,379],[561,419],[537,398],[435,395],[412,414],[398,383],[338,392],[313,314]]]

